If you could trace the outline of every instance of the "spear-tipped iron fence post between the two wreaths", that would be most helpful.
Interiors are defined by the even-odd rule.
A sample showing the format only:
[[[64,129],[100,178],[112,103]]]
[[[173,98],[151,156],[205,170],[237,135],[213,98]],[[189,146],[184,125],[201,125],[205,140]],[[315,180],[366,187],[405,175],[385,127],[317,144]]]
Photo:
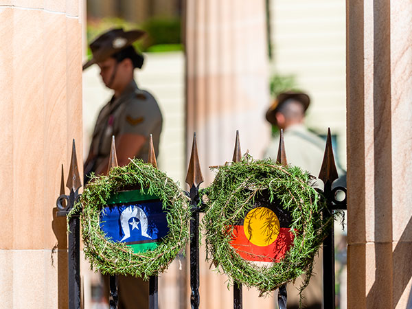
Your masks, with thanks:
[[[196,144],[196,133],[193,135],[192,154],[185,182],[189,185],[190,206],[192,219],[190,220],[190,305],[192,309],[199,308],[199,185],[203,183],[203,175],[199,164]]]

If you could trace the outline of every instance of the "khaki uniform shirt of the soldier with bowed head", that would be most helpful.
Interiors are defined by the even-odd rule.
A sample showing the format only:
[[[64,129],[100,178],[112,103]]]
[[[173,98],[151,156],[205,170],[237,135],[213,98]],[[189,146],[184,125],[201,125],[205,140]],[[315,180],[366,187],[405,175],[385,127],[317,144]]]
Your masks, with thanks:
[[[135,157],[147,161],[150,134],[152,134],[157,155],[161,127],[161,111],[155,98],[148,91],[139,89],[136,82],[132,80],[118,98],[113,96],[100,111],[90,148],[90,151],[96,155],[93,172],[109,156],[112,135],[115,139],[126,133],[146,137],[144,146]]]

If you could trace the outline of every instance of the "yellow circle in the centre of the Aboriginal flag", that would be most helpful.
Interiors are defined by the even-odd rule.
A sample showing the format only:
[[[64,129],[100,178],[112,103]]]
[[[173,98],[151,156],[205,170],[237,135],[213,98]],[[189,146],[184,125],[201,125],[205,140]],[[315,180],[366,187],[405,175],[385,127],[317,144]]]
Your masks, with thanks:
[[[266,247],[274,242],[279,234],[279,219],[271,209],[253,208],[244,218],[243,229],[252,244]]]

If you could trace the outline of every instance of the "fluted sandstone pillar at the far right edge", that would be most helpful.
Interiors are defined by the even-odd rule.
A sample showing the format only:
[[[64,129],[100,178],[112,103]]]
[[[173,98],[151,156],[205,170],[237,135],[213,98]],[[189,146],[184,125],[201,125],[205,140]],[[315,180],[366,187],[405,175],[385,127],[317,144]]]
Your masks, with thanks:
[[[412,282],[412,2],[347,0],[348,307]]]

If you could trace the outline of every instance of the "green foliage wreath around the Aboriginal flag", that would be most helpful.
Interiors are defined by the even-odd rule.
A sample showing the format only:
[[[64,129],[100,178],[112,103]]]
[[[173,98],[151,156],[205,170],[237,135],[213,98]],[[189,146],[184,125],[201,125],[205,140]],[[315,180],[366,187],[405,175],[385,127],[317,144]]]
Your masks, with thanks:
[[[261,296],[306,274],[301,295],[312,274],[314,255],[333,220],[333,217],[327,222],[322,219],[325,202],[312,187],[314,178],[300,168],[277,165],[269,159],[253,161],[249,155],[239,163],[212,169],[218,172],[205,190],[209,206],[202,222],[207,260],[214,263],[217,271],[229,275],[229,285],[234,281],[254,286]],[[255,198],[264,190],[271,202],[276,197],[288,209],[292,219],[290,229],[295,235],[293,247],[271,266],[244,260],[230,244],[233,225],[247,215]]]

